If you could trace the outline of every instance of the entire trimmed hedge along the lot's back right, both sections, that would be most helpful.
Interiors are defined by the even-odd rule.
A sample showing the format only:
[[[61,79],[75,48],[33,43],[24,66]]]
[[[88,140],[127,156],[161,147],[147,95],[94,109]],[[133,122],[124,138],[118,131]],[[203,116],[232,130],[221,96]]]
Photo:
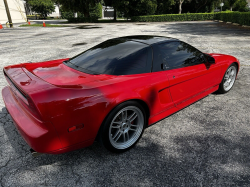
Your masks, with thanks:
[[[191,14],[164,14],[132,17],[134,22],[171,22],[171,21],[205,21],[222,20],[250,26],[250,12],[222,12],[222,13],[191,13]]]

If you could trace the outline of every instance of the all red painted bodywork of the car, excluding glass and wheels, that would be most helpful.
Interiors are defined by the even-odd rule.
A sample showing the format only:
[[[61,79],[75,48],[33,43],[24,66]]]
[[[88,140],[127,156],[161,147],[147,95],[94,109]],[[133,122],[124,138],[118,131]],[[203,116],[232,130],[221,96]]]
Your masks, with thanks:
[[[59,154],[91,145],[105,117],[124,101],[144,102],[151,125],[216,91],[228,66],[238,60],[212,56],[216,62],[210,67],[200,64],[126,76],[82,73],[64,65],[67,59],[8,66],[7,80],[19,92],[10,86],[2,95],[29,146]],[[81,124],[83,128],[68,131]]]

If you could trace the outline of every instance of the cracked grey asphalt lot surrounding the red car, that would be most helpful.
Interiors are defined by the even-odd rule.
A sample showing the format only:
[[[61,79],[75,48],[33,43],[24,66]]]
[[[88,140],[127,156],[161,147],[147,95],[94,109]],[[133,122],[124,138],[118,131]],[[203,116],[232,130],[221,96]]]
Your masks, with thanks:
[[[211,94],[147,128],[130,151],[98,143],[33,158],[0,99],[0,186],[249,186],[250,30],[216,22],[81,24],[0,30],[0,69],[72,57],[106,39],[175,37],[241,62],[233,89]],[[7,83],[0,74],[0,88]]]

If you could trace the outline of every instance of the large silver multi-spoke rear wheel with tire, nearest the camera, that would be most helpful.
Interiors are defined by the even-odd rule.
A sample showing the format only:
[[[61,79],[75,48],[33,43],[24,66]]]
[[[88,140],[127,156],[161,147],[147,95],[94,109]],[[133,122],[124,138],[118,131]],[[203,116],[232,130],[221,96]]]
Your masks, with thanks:
[[[122,103],[105,120],[100,132],[100,141],[109,151],[127,151],[142,136],[145,123],[145,110],[139,103]]]

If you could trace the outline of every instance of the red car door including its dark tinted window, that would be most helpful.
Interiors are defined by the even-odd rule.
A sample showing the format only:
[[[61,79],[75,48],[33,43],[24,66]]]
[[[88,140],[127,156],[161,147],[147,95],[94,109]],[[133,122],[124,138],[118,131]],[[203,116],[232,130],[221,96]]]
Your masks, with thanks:
[[[220,68],[208,64],[204,54],[180,41],[154,46],[156,61],[166,70],[176,107],[183,108],[219,84]]]

